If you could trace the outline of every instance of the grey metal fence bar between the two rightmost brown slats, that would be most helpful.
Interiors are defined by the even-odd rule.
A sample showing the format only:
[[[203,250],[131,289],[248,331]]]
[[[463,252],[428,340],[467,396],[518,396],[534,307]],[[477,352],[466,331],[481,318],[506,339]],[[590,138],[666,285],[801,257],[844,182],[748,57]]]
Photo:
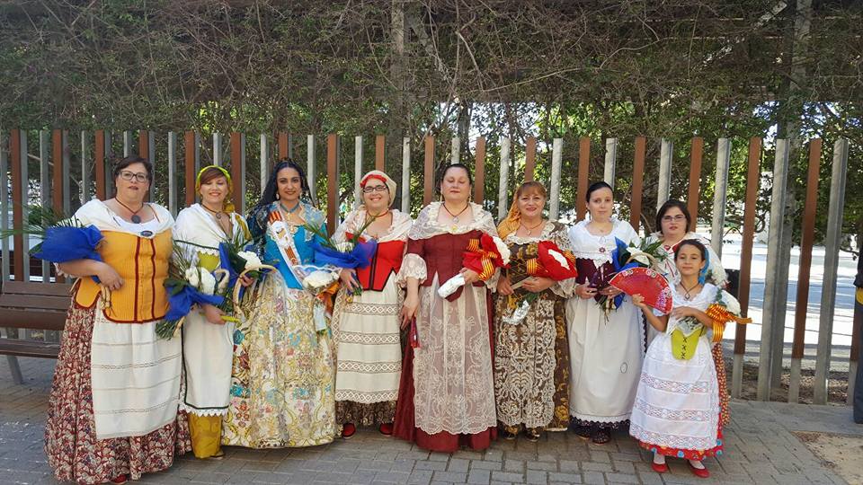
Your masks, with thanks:
[[[779,251],[782,251],[780,240],[785,225],[785,199],[788,180],[788,140],[776,140],[776,159],[773,164],[773,190],[770,201],[770,228],[767,243],[767,276],[764,279],[764,311],[761,322],[761,351],[758,358],[758,400],[770,401],[770,384],[773,374],[774,348],[782,345],[775,341],[774,327],[783,322],[782,315],[776,314],[778,308],[776,298],[778,286],[782,282],[777,279]],[[787,284],[787,281],[785,282]]]

